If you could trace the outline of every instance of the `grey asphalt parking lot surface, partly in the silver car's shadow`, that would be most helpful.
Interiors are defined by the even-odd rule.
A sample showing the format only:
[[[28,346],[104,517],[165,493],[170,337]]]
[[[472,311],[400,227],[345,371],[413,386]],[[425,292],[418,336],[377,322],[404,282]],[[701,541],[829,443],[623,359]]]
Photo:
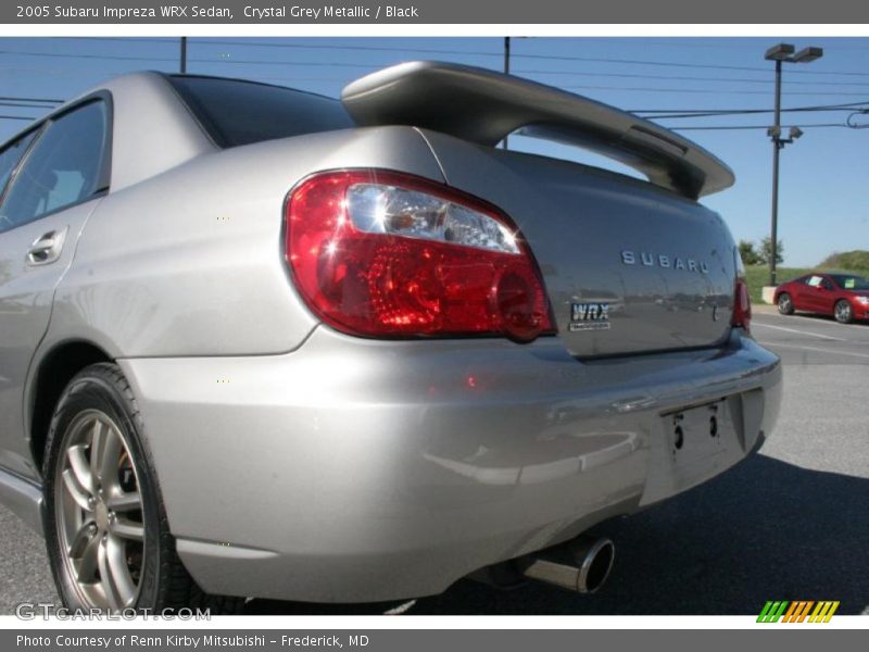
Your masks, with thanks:
[[[759,455],[687,494],[601,524],[616,543],[591,597],[461,581],[415,614],[756,614],[767,600],[839,600],[869,614],[869,325],[756,309],[756,338],[785,365],[782,413]],[[55,593],[41,539],[0,507],[0,613]],[[251,613],[377,613],[252,601]]]

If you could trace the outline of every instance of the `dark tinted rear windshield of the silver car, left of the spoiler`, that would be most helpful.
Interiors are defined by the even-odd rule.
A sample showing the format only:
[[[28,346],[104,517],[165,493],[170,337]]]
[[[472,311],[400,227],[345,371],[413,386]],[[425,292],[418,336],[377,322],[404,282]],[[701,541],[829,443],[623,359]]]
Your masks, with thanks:
[[[355,126],[338,100],[318,95],[240,79],[171,76],[169,80],[223,148]]]

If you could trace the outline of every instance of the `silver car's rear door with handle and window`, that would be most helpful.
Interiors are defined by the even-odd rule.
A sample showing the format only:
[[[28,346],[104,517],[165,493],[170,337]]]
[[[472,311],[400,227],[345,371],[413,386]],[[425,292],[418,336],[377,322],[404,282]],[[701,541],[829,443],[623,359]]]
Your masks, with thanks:
[[[0,199],[0,466],[36,477],[24,384],[76,239],[108,189],[110,110],[87,101],[34,134]]]

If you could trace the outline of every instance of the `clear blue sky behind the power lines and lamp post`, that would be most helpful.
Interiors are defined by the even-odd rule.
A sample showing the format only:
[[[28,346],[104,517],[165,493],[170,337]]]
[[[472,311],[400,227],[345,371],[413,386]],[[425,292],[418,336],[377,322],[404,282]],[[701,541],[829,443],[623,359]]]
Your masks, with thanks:
[[[785,64],[784,109],[860,103],[869,109],[869,38],[521,38],[512,42],[512,72],[629,111],[743,110],[772,106],[767,47],[819,46],[811,64]],[[215,42],[219,41],[219,42]],[[348,82],[401,61],[455,61],[501,70],[500,38],[190,39],[188,72],[245,77],[337,96]],[[0,96],[66,99],[102,79],[135,70],[177,71],[171,38],[1,38]],[[25,102],[18,102],[25,103]],[[0,105],[5,116],[46,110]],[[781,158],[779,235],[785,264],[813,265],[833,251],[869,249],[869,128],[843,125],[849,112],[785,113],[805,135]],[[668,118],[669,127],[766,126],[770,114]],[[856,116],[869,125],[869,114]],[[0,140],[27,123],[0,120]],[[769,231],[771,145],[764,128],[682,130],[723,159],[736,186],[705,200],[735,238]],[[512,139],[540,153],[600,160],[567,148]],[[619,170],[617,166],[608,167]]]

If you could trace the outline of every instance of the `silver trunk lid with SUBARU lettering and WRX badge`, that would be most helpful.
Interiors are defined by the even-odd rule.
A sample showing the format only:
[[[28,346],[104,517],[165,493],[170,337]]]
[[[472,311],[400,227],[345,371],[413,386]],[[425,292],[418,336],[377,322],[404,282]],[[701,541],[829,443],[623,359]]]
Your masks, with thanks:
[[[451,186],[517,223],[574,355],[708,347],[728,337],[735,248],[716,213],[639,179],[424,135]]]

